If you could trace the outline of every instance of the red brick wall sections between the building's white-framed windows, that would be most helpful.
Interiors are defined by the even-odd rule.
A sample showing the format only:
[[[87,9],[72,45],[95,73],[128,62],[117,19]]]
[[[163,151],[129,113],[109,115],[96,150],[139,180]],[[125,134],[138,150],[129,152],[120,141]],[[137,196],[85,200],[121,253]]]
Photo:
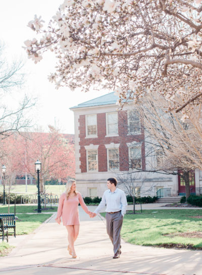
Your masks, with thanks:
[[[79,138],[80,138],[80,161],[81,173],[86,172],[86,150],[84,146],[93,144],[99,145],[98,147],[98,171],[106,172],[107,169],[107,149],[105,144],[111,142],[120,143],[119,146],[119,160],[120,171],[128,171],[128,146],[126,143],[136,141],[141,142],[144,140],[143,128],[140,135],[127,135],[127,111],[118,112],[118,131],[117,137],[106,137],[106,114],[97,114],[97,138],[85,138],[85,115],[79,117]],[[142,142],[142,169],[145,169],[145,148]]]

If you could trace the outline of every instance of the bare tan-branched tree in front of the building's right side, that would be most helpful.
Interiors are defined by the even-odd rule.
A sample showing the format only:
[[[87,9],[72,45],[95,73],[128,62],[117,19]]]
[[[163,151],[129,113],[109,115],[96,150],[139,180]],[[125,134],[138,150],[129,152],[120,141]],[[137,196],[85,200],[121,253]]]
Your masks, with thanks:
[[[160,171],[175,171],[185,181],[186,198],[190,195],[189,173],[202,169],[201,105],[187,110],[187,119],[182,121],[174,112],[167,113],[168,102],[158,93],[142,100],[138,109],[143,118],[145,142],[156,155]],[[165,106],[165,107],[162,107]],[[154,162],[150,163],[154,167]]]

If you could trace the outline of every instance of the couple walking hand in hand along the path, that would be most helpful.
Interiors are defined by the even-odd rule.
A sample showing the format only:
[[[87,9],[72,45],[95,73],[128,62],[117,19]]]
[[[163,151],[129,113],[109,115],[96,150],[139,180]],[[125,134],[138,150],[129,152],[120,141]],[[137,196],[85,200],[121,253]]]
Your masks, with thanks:
[[[88,210],[81,194],[76,191],[76,181],[74,180],[68,181],[66,191],[60,197],[56,222],[60,224],[62,216],[63,225],[66,226],[68,231],[69,245],[67,249],[69,250],[69,254],[72,255],[72,258],[77,257],[74,249],[74,242],[79,234],[79,203],[90,217],[96,216],[96,213],[101,211],[102,208],[107,205],[107,233],[114,246],[113,258],[115,259],[120,257],[120,233],[123,217],[126,212],[127,200],[125,193],[121,189],[117,188],[117,180],[115,178],[109,178],[107,180],[107,187],[108,190],[104,192],[102,200],[94,212]]]

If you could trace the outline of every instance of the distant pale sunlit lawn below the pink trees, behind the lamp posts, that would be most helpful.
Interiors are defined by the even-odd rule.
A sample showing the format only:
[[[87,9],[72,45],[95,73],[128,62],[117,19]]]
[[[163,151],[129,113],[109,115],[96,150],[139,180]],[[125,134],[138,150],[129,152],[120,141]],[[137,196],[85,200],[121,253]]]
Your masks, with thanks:
[[[22,192],[25,193],[26,189],[25,189],[25,185],[13,185],[11,188],[11,193],[15,193],[15,192]],[[48,194],[52,194],[53,195],[58,195],[60,196],[63,192],[65,192],[65,185],[46,185],[45,186],[45,190],[46,193]],[[3,192],[3,186],[0,186],[0,192]],[[7,189],[6,189],[7,192]],[[36,193],[37,192],[37,186],[36,185],[27,185],[27,194],[30,193]]]

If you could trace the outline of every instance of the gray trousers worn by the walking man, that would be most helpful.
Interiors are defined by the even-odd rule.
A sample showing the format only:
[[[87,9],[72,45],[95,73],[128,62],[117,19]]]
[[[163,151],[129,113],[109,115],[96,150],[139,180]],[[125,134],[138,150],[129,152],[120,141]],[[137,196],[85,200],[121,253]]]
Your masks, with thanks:
[[[121,227],[123,224],[123,216],[121,211],[118,213],[110,214],[106,213],[106,222],[107,222],[107,234],[112,241],[114,246],[114,253],[120,249],[121,246]]]

